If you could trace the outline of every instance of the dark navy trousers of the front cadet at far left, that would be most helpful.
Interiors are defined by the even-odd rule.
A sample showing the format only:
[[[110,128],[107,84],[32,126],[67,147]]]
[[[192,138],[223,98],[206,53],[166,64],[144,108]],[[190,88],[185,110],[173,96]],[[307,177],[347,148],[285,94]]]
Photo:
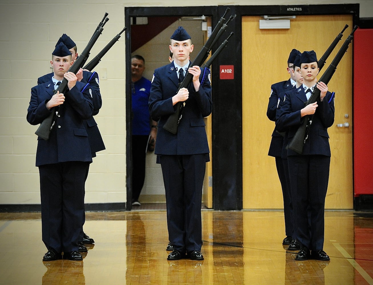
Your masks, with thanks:
[[[78,251],[88,166],[81,161],[39,166],[41,230],[48,250]]]

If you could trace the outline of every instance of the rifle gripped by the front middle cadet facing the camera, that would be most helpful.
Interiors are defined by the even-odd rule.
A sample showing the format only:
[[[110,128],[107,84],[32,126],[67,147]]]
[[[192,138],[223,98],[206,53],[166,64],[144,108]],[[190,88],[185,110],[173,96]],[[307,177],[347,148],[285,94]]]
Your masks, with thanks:
[[[219,22],[216,24],[213,32],[211,33],[210,37],[207,39],[206,43],[204,44],[204,46],[202,47],[202,49],[200,50],[200,52],[198,53],[197,57],[195,58],[195,60],[192,62],[191,66],[201,66],[204,61],[206,60],[206,58],[209,56],[209,53],[210,53],[210,50],[212,48],[212,45],[214,42],[216,42],[217,39],[215,39],[217,36],[220,37],[220,35],[222,34],[222,32],[220,32],[220,30],[223,28],[223,21],[225,20],[225,15],[226,13],[231,10],[230,8],[227,8],[225,10],[225,13],[224,15],[222,16],[222,18],[220,18]],[[229,19],[227,21],[227,23],[230,21],[231,19]],[[226,24],[225,24],[225,27],[223,28],[223,32],[225,31],[225,28],[226,28]],[[220,32],[220,33],[219,33]],[[184,77],[183,81],[180,83],[180,86],[178,88],[178,91],[176,91],[176,94],[179,92],[179,90],[181,88],[188,88],[189,84],[191,83],[193,79],[193,75],[190,74],[189,72],[186,73],[186,76]],[[178,132],[178,125],[179,125],[179,121],[182,117],[181,115],[181,111],[182,111],[182,108],[184,108],[184,105],[185,105],[185,102],[177,102],[175,104],[175,113],[172,113],[171,115],[169,115],[169,117],[167,118],[167,121],[166,123],[164,123],[163,125],[163,129],[169,131],[170,133],[173,133],[173,134],[176,134]]]

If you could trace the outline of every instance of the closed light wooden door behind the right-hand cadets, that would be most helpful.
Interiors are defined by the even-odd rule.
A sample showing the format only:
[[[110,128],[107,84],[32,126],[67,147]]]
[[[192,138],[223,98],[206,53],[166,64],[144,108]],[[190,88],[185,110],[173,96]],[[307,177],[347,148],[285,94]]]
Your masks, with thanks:
[[[270,86],[289,79],[286,61],[292,48],[314,50],[320,58],[348,24],[321,76],[350,34],[352,16],[297,16],[290,29],[259,29],[260,19],[242,18],[242,205],[243,209],[282,209],[275,158],[267,155],[275,127],[266,116]],[[335,92],[335,123],[328,129],[332,157],[325,208],[352,209],[352,43],[328,88]],[[341,123],[350,126],[337,127]]]

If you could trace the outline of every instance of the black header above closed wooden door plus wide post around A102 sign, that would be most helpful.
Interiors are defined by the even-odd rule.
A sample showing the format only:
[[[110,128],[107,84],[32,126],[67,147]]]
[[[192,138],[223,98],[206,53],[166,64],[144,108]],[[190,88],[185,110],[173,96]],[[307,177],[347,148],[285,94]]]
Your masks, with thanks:
[[[219,6],[221,15],[227,6]],[[232,43],[225,48],[212,68],[213,97],[213,206],[215,210],[242,209],[242,16],[290,16],[352,14],[359,20],[359,4],[228,6],[236,14]],[[294,11],[296,10],[296,11]],[[351,27],[352,28],[352,27]],[[232,28],[231,28],[232,29]],[[235,47],[232,52],[232,46]],[[234,65],[233,80],[219,80],[220,65]],[[215,76],[214,76],[215,75]],[[254,82],[253,83],[257,83]],[[213,89],[214,89],[213,88]],[[234,95],[234,96],[233,96]],[[232,118],[232,120],[227,120]],[[229,138],[229,140],[227,139]],[[353,191],[351,193],[353,195]]]

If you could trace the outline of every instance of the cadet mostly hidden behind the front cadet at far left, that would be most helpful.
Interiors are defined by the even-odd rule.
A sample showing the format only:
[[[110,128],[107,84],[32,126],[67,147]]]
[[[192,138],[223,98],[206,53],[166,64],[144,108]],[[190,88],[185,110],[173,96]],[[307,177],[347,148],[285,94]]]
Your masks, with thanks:
[[[75,42],[66,34],[63,34],[62,37],[59,38],[56,46],[60,42],[63,42],[66,45],[66,47],[68,47],[68,49],[70,50],[72,54],[72,60],[75,62],[76,58],[78,58],[77,47],[76,47]],[[38,84],[48,82],[52,76],[53,76],[53,72],[39,77]],[[88,140],[90,141],[92,157],[95,157],[96,152],[103,151],[105,149],[105,145],[101,137],[100,130],[98,130],[97,123],[93,118],[94,115],[98,114],[102,106],[98,74],[97,72],[89,72],[87,70],[80,69],[76,73],[76,77],[78,77],[78,81],[80,82],[89,83],[91,90],[92,90],[93,114],[90,118],[88,118],[87,120],[84,120],[84,127],[88,133]],[[87,177],[88,177],[88,171],[89,171],[89,168],[87,170]],[[93,238],[90,238],[87,234],[83,232],[84,222],[85,222],[85,215],[82,221],[82,232],[81,232],[81,238],[80,238],[81,244],[79,244],[80,252],[88,251],[87,247],[85,247],[84,244],[94,243]]]

